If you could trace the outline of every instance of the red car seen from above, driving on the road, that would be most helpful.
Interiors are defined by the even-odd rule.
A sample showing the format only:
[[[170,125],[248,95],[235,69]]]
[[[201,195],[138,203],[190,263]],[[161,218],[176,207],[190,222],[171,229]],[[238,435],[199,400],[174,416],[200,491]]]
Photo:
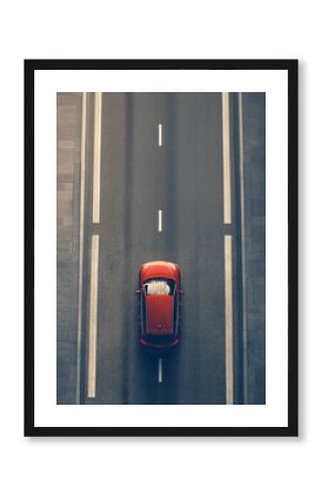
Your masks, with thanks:
[[[179,342],[180,269],[170,262],[148,262],[139,271],[139,340],[151,347],[169,347]]]

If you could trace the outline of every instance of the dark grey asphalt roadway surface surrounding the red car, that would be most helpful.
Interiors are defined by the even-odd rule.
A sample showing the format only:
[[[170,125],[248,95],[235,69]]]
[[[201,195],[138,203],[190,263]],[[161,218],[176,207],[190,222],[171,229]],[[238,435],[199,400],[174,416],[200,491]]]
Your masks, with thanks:
[[[87,118],[89,143],[93,142],[92,122],[93,111]],[[96,390],[94,398],[87,397],[85,339],[83,403],[226,404],[224,234],[236,237],[236,217],[232,203],[232,224],[222,224],[221,94],[103,94],[99,224],[91,222],[92,174],[87,175],[85,240],[90,248],[92,234],[100,235],[100,261]],[[157,228],[158,210],[163,232]],[[90,256],[87,249],[86,309]],[[153,354],[138,343],[134,292],[139,266],[153,259],[172,261],[182,268],[182,342],[168,353]],[[237,262],[234,254],[236,403]]]

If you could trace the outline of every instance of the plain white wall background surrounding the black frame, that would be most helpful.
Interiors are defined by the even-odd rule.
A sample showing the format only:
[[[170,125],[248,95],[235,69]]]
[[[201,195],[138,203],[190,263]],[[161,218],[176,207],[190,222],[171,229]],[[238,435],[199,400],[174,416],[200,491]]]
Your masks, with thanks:
[[[319,487],[318,3],[58,0],[2,8],[1,447],[3,497],[301,498]],[[300,438],[23,438],[23,59],[300,59]],[[28,175],[28,172],[25,172]],[[318,493],[318,492],[317,492]]]

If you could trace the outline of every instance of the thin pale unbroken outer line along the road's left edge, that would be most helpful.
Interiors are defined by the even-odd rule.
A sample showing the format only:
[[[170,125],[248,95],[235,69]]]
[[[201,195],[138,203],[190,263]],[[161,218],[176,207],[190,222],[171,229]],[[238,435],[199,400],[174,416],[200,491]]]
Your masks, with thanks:
[[[84,206],[85,206],[85,156],[86,156],[86,92],[82,94],[82,129],[81,129],[81,173],[80,173],[80,234],[79,234],[79,286],[77,286],[77,334],[76,334],[76,381],[75,403],[80,404],[81,377],[81,342],[82,342],[82,294],[84,264]]]

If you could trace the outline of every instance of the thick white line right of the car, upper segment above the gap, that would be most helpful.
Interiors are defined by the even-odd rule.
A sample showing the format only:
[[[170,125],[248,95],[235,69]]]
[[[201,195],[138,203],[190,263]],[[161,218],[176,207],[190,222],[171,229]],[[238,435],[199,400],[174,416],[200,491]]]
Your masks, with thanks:
[[[229,94],[221,94],[222,118],[222,190],[224,190],[224,223],[231,223],[231,179],[230,179],[230,139],[229,139]]]

